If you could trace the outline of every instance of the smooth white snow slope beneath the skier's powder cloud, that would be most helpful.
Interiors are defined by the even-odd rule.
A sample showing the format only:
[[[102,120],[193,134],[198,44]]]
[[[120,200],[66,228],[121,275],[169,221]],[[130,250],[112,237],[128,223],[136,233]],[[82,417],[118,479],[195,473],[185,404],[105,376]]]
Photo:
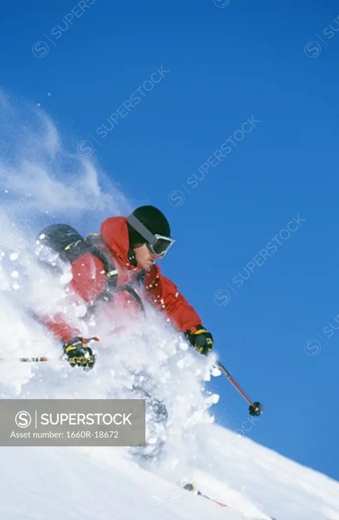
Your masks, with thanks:
[[[212,451],[232,437],[221,427],[207,428]],[[118,448],[95,448],[88,454],[82,454],[85,448],[79,450],[1,448],[0,518],[339,518],[338,483],[248,439],[239,440],[227,459],[220,459],[199,480],[201,488],[234,509],[221,508],[142,470]]]

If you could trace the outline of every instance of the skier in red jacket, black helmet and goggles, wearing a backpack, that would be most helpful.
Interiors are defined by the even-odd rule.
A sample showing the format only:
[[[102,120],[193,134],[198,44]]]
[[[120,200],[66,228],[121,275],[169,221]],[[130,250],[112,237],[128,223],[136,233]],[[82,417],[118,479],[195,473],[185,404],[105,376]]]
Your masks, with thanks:
[[[73,299],[76,296],[78,302],[85,302],[94,311],[96,305],[105,302],[113,317],[115,305],[127,306],[129,302],[129,306],[143,309],[143,301],[147,300],[164,312],[189,344],[208,355],[213,348],[212,334],[155,263],[174,243],[165,215],[154,206],[141,206],[127,218],[107,218],[100,231],[100,235],[83,238],[71,226],[55,224],[40,232],[38,243],[71,264],[69,290]],[[90,340],[82,337],[64,316],[39,319],[62,342],[71,366],[85,370],[93,367]]]

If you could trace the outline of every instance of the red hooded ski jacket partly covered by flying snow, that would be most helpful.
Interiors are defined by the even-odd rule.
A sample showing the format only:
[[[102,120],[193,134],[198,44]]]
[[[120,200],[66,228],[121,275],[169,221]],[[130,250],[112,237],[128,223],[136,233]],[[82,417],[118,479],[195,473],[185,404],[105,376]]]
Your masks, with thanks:
[[[118,271],[117,287],[135,283],[141,269],[133,267],[128,259],[129,238],[126,218],[107,218],[101,224],[100,231],[106,249],[112,255]],[[77,258],[71,267],[73,275],[70,282],[71,292],[83,302],[97,300],[106,287],[106,273],[101,260],[91,253],[85,253]],[[179,293],[177,286],[161,275],[159,267],[155,264],[150,270],[144,272],[143,291],[140,296],[162,310],[173,325],[182,332],[193,333],[196,327],[201,325],[201,320],[194,308]],[[127,306],[131,300],[133,301],[133,297],[127,291],[121,291],[114,295],[112,301],[107,302],[107,307],[112,308],[114,317],[114,306]],[[134,305],[132,304],[133,306],[138,307],[136,301]],[[42,321],[57,339],[65,343],[79,335],[79,331],[66,323],[62,315],[53,318],[44,317]]]

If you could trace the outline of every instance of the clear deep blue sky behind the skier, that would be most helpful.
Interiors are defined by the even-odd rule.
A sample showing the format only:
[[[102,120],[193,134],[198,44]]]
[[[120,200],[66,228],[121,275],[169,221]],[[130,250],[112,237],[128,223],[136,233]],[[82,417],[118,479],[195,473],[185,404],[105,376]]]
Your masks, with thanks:
[[[295,4],[5,0],[1,85],[168,215],[164,273],[265,405],[248,435],[339,479],[339,9]]]

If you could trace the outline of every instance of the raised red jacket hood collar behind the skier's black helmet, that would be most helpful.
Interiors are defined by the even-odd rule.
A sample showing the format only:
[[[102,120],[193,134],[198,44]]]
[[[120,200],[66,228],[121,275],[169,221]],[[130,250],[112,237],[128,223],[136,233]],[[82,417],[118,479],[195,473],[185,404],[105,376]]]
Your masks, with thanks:
[[[102,238],[114,256],[118,257],[119,262],[129,269],[135,269],[128,259],[130,248],[127,218],[109,217],[100,226]]]

